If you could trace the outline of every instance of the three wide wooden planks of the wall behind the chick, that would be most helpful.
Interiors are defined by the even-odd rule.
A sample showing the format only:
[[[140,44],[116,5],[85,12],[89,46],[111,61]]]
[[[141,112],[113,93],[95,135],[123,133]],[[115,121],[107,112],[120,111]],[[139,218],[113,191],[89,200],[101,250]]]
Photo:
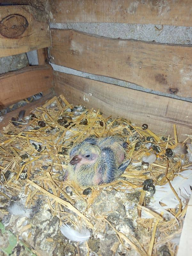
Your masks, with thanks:
[[[50,20],[191,26],[191,11],[188,0],[51,0]],[[143,91],[192,97],[191,45],[112,39],[67,29],[51,29],[51,37],[53,64],[131,82]],[[139,125],[147,123],[154,132],[173,135],[173,124],[180,134],[192,132],[191,102],[56,71],[54,77],[56,92],[71,103],[100,108],[106,116],[124,116]]]

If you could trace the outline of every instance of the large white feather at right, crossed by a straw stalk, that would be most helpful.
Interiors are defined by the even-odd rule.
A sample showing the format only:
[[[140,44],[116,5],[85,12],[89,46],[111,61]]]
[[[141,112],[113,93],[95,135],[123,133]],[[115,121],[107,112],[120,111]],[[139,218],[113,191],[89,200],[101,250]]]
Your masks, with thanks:
[[[192,186],[192,170],[180,172],[180,175],[175,177],[172,181],[170,181],[170,183],[176,191],[177,195],[179,196],[182,204],[186,205],[191,195],[190,186]],[[169,183],[163,186],[155,186],[155,188],[156,192],[151,199],[148,208],[150,208],[154,212],[164,212],[165,215],[172,216],[172,214],[165,209],[175,208],[179,204],[179,200],[173,193]],[[166,206],[161,206],[159,202],[166,204]],[[144,211],[142,211],[141,217],[152,218],[151,215],[148,215]]]

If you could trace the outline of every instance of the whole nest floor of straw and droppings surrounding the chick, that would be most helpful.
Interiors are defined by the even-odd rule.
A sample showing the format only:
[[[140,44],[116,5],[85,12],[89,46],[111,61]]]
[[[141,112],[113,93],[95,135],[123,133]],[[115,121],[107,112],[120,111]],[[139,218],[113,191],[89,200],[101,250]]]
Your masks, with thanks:
[[[175,255],[172,236],[181,232],[186,204],[168,209],[168,219],[153,210],[151,219],[141,218],[141,208],[153,202],[157,185],[163,187],[191,166],[188,156],[175,153],[177,137],[154,134],[124,118],[105,118],[100,110],[72,106],[62,95],[34,109],[27,120],[20,126],[8,124],[0,137],[0,218],[7,230],[36,255]],[[132,160],[124,173],[98,186],[79,187],[67,179],[71,148],[87,137],[94,142],[111,135],[128,143],[127,157]],[[167,157],[168,150],[177,157]],[[25,202],[30,216],[11,215],[10,200]],[[60,232],[62,224],[88,228],[91,236],[82,244],[69,241]],[[18,246],[13,255],[28,255],[22,250]]]

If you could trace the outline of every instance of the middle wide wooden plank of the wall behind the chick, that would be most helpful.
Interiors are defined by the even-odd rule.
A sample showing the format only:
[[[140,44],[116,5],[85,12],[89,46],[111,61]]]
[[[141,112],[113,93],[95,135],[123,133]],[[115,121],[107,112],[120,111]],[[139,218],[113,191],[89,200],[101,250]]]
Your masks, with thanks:
[[[52,29],[51,36],[54,64],[192,96],[191,45],[111,39],[63,29]]]

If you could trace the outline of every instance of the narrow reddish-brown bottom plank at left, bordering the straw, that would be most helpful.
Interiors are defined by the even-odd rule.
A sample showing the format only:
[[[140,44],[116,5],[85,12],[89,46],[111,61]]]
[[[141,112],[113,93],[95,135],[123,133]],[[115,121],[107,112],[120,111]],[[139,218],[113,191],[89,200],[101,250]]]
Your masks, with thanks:
[[[55,96],[55,93],[48,89],[45,92],[43,92],[43,97],[39,100],[35,100],[33,102],[28,103],[27,105],[17,108],[6,115],[4,115],[4,119],[2,122],[0,122],[0,131],[3,129],[4,126],[6,126],[9,123],[9,120],[11,120],[12,116],[16,117],[18,116],[19,112],[21,110],[25,110],[25,116],[28,116],[31,110],[35,109],[36,107],[42,106],[47,100],[52,99]]]

